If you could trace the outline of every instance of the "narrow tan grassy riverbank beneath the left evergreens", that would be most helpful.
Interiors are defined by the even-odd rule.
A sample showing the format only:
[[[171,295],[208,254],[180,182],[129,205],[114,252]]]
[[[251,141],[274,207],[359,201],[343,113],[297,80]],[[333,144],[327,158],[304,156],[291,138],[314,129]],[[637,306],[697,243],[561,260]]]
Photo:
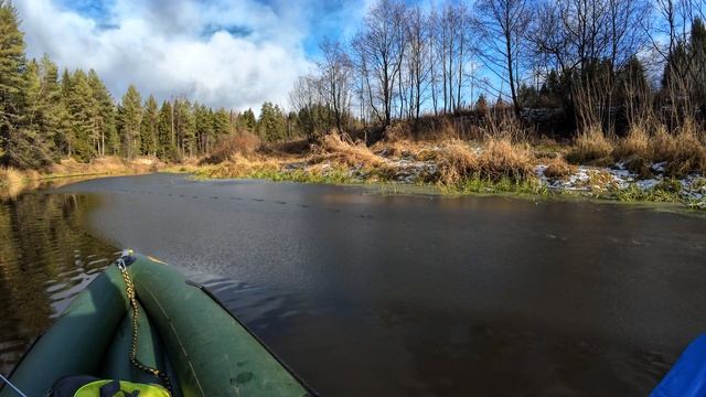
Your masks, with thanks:
[[[81,163],[64,159],[43,172],[0,168],[0,198],[11,198],[41,186],[61,186],[77,179],[109,175],[129,175],[154,172],[164,167],[158,159],[142,157],[126,161],[117,157],[103,157]]]

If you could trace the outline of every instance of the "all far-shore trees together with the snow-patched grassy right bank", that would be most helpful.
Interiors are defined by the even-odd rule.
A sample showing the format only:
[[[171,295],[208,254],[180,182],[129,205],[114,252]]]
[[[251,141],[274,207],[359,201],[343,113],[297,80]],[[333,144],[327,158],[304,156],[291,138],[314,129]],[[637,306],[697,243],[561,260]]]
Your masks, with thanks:
[[[135,86],[114,98],[93,69],[28,60],[0,1],[6,167],[148,155],[225,163],[210,176],[327,180],[333,164],[334,181],[706,194],[704,1],[378,0],[258,117]]]

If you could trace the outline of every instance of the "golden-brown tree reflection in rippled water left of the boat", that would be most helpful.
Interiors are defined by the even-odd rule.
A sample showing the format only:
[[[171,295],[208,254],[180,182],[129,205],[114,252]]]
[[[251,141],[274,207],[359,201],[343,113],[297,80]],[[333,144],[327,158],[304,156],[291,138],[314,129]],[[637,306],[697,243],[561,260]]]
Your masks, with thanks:
[[[94,205],[93,197],[41,193],[0,202],[0,372],[115,251],[83,229],[81,217]]]

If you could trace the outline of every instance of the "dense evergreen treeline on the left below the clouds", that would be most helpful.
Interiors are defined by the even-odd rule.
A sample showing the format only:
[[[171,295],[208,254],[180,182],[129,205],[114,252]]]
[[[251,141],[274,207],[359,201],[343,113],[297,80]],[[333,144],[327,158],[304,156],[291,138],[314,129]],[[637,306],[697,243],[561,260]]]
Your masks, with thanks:
[[[160,104],[135,86],[116,101],[93,69],[60,73],[47,55],[26,60],[19,20],[0,0],[0,164],[43,169],[61,158],[101,155],[176,161],[208,153],[236,131],[267,140],[295,135],[295,115],[271,103],[256,117],[182,97]]]

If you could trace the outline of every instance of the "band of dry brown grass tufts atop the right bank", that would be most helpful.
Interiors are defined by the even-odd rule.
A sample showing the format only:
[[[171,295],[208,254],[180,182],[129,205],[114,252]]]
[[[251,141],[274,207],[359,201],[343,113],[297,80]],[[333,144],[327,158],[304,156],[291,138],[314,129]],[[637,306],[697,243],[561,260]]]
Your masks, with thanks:
[[[437,120],[442,125],[442,119]],[[391,159],[429,161],[438,173],[425,176],[428,182],[445,185],[464,185],[473,181],[534,182],[536,164],[546,164],[544,174],[550,179],[565,179],[577,172],[575,164],[609,165],[623,160],[643,176],[651,175],[650,165],[667,161],[670,176],[688,172],[706,172],[706,137],[695,124],[685,125],[675,133],[666,132],[659,124],[635,122],[621,139],[607,137],[601,128],[585,129],[570,144],[549,139],[531,140],[526,129],[512,118],[488,120],[472,141],[448,138],[416,140],[406,130],[408,126],[392,127],[391,138],[367,147],[347,136],[331,133],[315,143],[306,140],[259,144],[256,150],[243,149],[247,144],[231,142],[223,153],[212,157],[217,165],[206,167],[197,173],[203,176],[244,178],[278,172],[325,174],[329,169],[345,172],[356,169],[370,175],[395,175],[402,162]],[[445,128],[456,128],[447,122]],[[225,157],[227,154],[227,157]],[[215,160],[214,160],[215,159]],[[565,160],[566,159],[566,160]],[[567,162],[567,160],[569,162]],[[206,161],[207,162],[207,161]],[[405,162],[406,163],[406,162]],[[289,164],[289,167],[288,167]],[[608,185],[610,176],[597,175],[591,183]],[[605,181],[603,181],[605,179]],[[595,180],[595,181],[593,181]]]

